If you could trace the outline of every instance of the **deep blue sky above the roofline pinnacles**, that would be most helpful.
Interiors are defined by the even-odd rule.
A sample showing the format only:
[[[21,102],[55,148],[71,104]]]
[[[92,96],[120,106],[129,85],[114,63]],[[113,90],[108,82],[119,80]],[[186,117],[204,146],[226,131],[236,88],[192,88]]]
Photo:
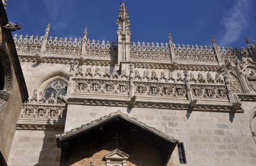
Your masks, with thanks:
[[[50,36],[115,41],[121,1],[112,0],[9,0],[10,22],[19,23],[19,34],[43,35],[47,23]],[[253,43],[256,37],[255,0],[127,0],[131,22],[131,42],[167,42],[168,31],[174,43],[245,47],[243,36]]]

